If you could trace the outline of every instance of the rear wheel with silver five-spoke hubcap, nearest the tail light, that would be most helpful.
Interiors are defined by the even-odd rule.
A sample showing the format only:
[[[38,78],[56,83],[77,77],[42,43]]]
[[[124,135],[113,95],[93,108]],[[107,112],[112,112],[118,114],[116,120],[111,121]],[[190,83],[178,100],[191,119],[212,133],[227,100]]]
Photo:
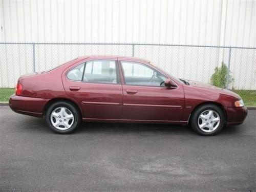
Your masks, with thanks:
[[[75,105],[59,101],[53,103],[46,112],[46,123],[50,129],[59,134],[74,132],[81,122],[81,115]]]

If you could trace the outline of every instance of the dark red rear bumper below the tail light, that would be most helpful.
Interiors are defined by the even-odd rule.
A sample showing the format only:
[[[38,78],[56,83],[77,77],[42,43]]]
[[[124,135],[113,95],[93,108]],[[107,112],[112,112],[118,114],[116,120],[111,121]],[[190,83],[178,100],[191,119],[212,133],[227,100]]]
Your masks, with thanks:
[[[12,95],[9,106],[12,111],[34,117],[42,117],[44,107],[50,99]]]

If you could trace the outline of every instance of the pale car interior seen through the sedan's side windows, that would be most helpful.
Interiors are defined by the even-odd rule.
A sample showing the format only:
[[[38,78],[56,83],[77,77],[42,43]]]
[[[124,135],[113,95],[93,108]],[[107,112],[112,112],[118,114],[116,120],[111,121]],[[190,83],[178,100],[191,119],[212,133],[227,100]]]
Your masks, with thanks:
[[[125,83],[134,86],[162,86],[166,79],[161,73],[135,63],[126,63],[123,66]],[[117,83],[115,61],[89,61],[75,67],[68,72],[67,77],[71,80],[98,83]],[[142,66],[142,67],[141,67]],[[83,72],[84,71],[84,72]],[[83,78],[82,78],[83,76]]]

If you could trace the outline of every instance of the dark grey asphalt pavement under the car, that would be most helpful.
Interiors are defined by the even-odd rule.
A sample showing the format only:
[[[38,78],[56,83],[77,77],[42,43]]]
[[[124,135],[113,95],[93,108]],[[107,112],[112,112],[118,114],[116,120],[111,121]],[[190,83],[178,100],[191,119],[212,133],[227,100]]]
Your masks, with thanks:
[[[71,135],[1,107],[1,191],[255,191],[256,111],[219,135],[82,123]]]

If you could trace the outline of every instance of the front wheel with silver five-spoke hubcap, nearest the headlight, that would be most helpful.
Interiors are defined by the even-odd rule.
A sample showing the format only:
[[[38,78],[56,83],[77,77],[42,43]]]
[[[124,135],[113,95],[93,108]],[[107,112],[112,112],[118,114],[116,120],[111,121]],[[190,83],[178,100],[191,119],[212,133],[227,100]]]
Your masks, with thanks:
[[[219,119],[219,121],[218,121]],[[215,104],[199,106],[191,116],[191,127],[199,135],[218,134],[226,123],[225,114]]]

